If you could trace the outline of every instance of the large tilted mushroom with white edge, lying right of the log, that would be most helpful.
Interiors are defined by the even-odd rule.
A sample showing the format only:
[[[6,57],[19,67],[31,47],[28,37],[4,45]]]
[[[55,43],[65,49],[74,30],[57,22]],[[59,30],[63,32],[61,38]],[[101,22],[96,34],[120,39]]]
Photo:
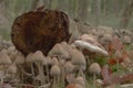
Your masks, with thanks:
[[[74,44],[82,51],[86,50],[89,52],[101,54],[103,56],[109,55],[104,47],[101,44],[99,44],[96,40],[94,40],[88,34],[83,34],[79,40],[74,41]]]

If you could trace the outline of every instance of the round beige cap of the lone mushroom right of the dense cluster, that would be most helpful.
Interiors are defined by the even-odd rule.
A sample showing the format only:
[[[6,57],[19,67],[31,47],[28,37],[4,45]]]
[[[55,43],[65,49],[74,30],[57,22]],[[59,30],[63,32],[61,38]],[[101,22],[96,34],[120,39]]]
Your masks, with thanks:
[[[101,67],[98,63],[91,64],[89,69],[90,69],[90,73],[92,73],[92,74],[100,75],[100,73],[101,73]]]

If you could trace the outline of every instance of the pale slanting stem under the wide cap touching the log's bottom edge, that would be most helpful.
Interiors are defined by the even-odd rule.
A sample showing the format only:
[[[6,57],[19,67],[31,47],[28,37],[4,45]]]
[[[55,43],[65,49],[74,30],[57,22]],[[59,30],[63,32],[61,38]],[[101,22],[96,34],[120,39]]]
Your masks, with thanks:
[[[44,85],[45,84],[45,78],[44,78],[44,74],[43,74],[43,65],[39,62],[35,62],[35,65],[39,69],[39,75],[41,76],[41,85]]]

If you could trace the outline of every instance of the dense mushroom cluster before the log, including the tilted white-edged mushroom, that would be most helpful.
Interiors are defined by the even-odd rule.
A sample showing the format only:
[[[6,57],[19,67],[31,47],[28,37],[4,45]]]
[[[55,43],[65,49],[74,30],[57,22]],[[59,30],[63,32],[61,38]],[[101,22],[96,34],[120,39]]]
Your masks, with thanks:
[[[52,88],[58,88],[60,85],[63,88],[69,88],[71,85],[78,86],[76,88],[86,88],[85,74],[88,73],[85,72],[89,64],[84,50],[108,55],[108,52],[88,34],[82,35],[72,44],[66,42],[55,44],[48,56],[44,56],[41,51],[24,56],[11,45],[0,52],[0,72],[3,73],[0,77],[1,82],[4,82],[7,78],[16,78],[20,84],[23,81],[38,87],[48,84]]]

